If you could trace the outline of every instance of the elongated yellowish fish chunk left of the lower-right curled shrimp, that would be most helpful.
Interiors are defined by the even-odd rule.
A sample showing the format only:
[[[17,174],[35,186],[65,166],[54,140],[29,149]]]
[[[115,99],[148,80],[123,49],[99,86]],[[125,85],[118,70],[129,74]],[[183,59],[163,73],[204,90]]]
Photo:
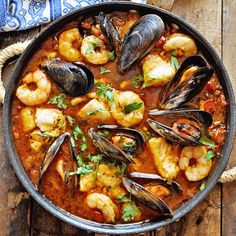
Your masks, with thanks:
[[[153,156],[154,165],[159,174],[166,179],[175,179],[178,172],[178,158],[173,152],[173,146],[164,138],[151,138],[148,148]]]

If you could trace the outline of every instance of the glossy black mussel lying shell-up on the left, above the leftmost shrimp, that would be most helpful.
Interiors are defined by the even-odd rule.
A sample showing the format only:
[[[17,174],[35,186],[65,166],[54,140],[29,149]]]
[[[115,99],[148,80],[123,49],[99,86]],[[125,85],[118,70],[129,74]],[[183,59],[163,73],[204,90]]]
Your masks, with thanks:
[[[48,58],[42,62],[41,67],[59,89],[69,96],[83,96],[93,88],[93,73],[82,63]]]

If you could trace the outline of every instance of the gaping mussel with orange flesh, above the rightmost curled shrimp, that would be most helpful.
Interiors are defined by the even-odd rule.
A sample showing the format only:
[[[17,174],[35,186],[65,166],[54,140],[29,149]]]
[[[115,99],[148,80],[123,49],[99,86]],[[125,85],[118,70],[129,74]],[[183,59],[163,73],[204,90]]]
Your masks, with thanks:
[[[162,137],[183,145],[198,145],[201,129],[211,126],[212,116],[206,111],[197,109],[151,110],[152,116],[172,116],[175,118],[172,127],[152,118],[147,119],[149,126]]]

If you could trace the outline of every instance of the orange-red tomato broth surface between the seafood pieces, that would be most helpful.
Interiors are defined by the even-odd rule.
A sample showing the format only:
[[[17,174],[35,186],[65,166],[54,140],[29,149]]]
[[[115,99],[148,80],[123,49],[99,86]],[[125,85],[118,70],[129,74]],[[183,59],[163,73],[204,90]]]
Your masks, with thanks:
[[[122,20],[117,23],[116,26],[119,27],[127,27],[125,26],[124,22],[126,22],[125,19],[132,19],[132,17],[137,18],[137,13],[113,13],[114,16],[119,16],[121,14],[122,16],[125,15],[125,17],[121,17],[123,19],[123,25]],[[63,32],[65,29],[70,29],[71,27],[75,27],[77,25],[77,22],[73,22],[69,24],[68,26],[65,26],[60,32]],[[127,24],[126,24],[127,25]],[[171,35],[176,31],[176,28],[171,28],[169,27],[165,31],[165,35]],[[33,57],[29,60],[24,72],[22,73],[22,77],[20,78],[19,81],[19,86],[22,84],[21,79],[29,72],[34,72],[36,69],[40,68],[40,63],[42,60],[48,56],[49,53],[54,53],[55,57],[59,57],[63,60],[65,58],[61,56],[58,52],[58,35],[60,35],[60,32],[51,38],[49,38],[47,41],[43,42],[41,47],[38,49],[37,52],[33,55]],[[151,53],[156,53],[158,55],[161,54],[163,51],[162,45],[155,47]],[[169,57],[169,53],[166,53],[164,57]],[[178,60],[179,63],[183,61],[184,57],[179,56]],[[145,113],[144,113],[144,118],[143,120],[135,127],[139,131],[142,131],[146,137],[158,137],[158,134],[156,134],[154,131],[152,131],[147,123],[146,119],[149,117],[149,110],[158,108],[159,106],[159,101],[160,101],[160,91],[162,90],[163,86],[158,86],[158,87],[147,87],[140,89],[140,86],[138,88],[134,88],[131,79],[136,76],[142,74],[142,66],[141,64],[136,64],[133,66],[128,72],[125,73],[120,73],[118,70],[118,63],[117,60],[114,61],[109,61],[106,63],[105,68],[107,70],[110,70],[109,73],[101,74],[100,73],[100,66],[99,65],[93,65],[91,63],[86,62],[84,59],[84,62],[89,66],[90,70],[92,71],[94,78],[96,81],[103,81],[106,83],[109,83],[112,85],[114,89],[117,89],[119,91],[133,91],[136,94],[140,96],[142,101],[144,102],[145,105]],[[214,84],[215,89],[212,91],[212,87],[209,86],[209,84]],[[52,89],[50,92],[49,99],[59,95],[62,93],[60,91],[56,84],[51,82]],[[31,88],[34,90],[34,86]],[[96,92],[96,87],[92,89],[91,92]],[[77,104],[77,105],[71,105],[71,100],[72,97],[66,96],[65,97],[65,102],[68,105],[66,109],[59,109],[56,104],[48,104],[48,100],[40,105],[34,106],[34,109],[37,108],[55,108],[59,109],[63,112],[64,116],[71,116],[74,119],[74,124],[72,126],[69,125],[69,123],[66,123],[66,131],[70,132],[73,134],[73,129],[75,128],[75,125],[78,124],[80,129],[83,131],[86,140],[87,140],[87,150],[84,152],[81,152],[79,150],[79,147],[81,145],[81,140],[78,139],[75,141],[76,143],[76,152],[77,154],[80,154],[83,159],[86,159],[86,156],[88,154],[98,154],[99,152],[95,149],[91,138],[88,136],[88,129],[91,127],[96,127],[97,125],[104,124],[103,122],[97,121],[95,119],[91,118],[88,120],[83,120],[78,117],[78,111],[86,104],[88,101],[91,99],[88,96],[85,96],[86,99]],[[225,110],[226,110],[226,102],[224,98],[224,94],[222,91],[222,87],[219,84],[219,81],[217,79],[217,76],[214,75],[211,80],[208,82],[208,84],[204,87],[204,89],[201,91],[200,94],[195,96],[190,102],[187,103],[187,106],[191,106],[192,108],[201,108],[201,102],[205,101],[212,101],[214,102],[215,106],[217,107],[217,110],[212,112],[213,115],[213,125],[208,128],[209,133],[218,140],[214,140],[215,145],[216,145],[216,150],[215,152],[217,154],[220,154],[221,148],[223,145],[224,141],[224,136],[225,136]],[[34,184],[37,184],[38,182],[38,176],[39,176],[39,168],[40,165],[42,164],[42,161],[45,157],[45,153],[52,143],[53,139],[49,143],[45,143],[42,145],[40,150],[35,151],[31,148],[30,146],[30,133],[29,132],[24,132],[23,130],[23,124],[22,124],[22,117],[20,114],[20,111],[22,108],[26,107],[25,104],[20,102],[20,100],[15,96],[14,101],[13,101],[13,109],[12,109],[12,130],[14,133],[15,137],[15,144],[16,148],[20,157],[20,160],[29,175],[30,179]],[[204,108],[203,108],[204,109]],[[159,122],[163,122],[165,124],[171,125],[173,119],[166,119],[165,117],[157,117],[155,118]],[[106,124],[117,124],[115,119],[110,119],[106,122]],[[216,135],[217,134],[217,135]],[[220,136],[220,137],[219,137]],[[214,138],[213,138],[214,139]],[[180,153],[182,150],[182,146],[179,144],[172,144],[173,145],[173,152],[175,152],[176,156],[179,158]],[[217,157],[214,157],[213,160],[213,165],[212,168],[214,168],[214,165],[217,163]],[[58,160],[63,160],[64,163],[66,163],[68,169],[71,169],[71,157],[70,157],[70,151],[69,151],[69,146],[68,146],[68,140],[64,142],[62,147],[60,148],[59,152],[57,153],[56,157],[54,160],[51,162],[50,166],[48,167],[47,171],[42,177],[42,180],[40,182],[40,187],[39,190],[42,194],[44,194],[47,198],[49,198],[52,202],[54,202],[56,205],[59,207],[65,209],[66,211],[101,223],[107,223],[106,219],[104,218],[103,213],[101,210],[97,208],[89,208],[88,205],[86,204],[86,197],[90,193],[103,193],[108,195],[114,203],[117,205],[117,213],[116,213],[116,221],[114,223],[125,223],[124,220],[122,219],[122,211],[124,209],[124,203],[120,203],[117,201],[112,194],[110,194],[110,189],[109,187],[95,187],[89,192],[81,192],[79,187],[76,188],[75,191],[73,191],[72,186],[70,184],[65,184],[61,178],[61,176],[58,174],[56,170],[56,163]],[[150,150],[145,147],[139,154],[137,154],[134,157],[135,163],[128,165],[128,172],[132,171],[139,171],[139,172],[146,172],[146,173],[153,173],[153,174],[158,174],[158,170],[154,165],[153,157],[150,152]],[[96,164],[92,163],[95,167]],[[199,191],[199,187],[201,183],[204,181],[196,181],[196,182],[191,182],[188,181],[187,178],[185,177],[184,171],[179,171],[177,178],[175,179],[177,181],[182,189],[183,193],[174,193],[170,191],[170,194],[166,197],[163,197],[163,200],[168,204],[168,206],[171,209],[176,209],[178,208],[181,204],[183,204],[185,201],[190,199],[191,197],[194,196]],[[121,184],[121,188],[123,191],[125,191],[123,185]],[[128,193],[126,192],[127,196]],[[135,201],[135,199],[134,199]],[[134,218],[131,220],[131,222],[135,221],[142,221],[146,219],[150,219],[153,217],[158,217],[161,214],[159,212],[155,212],[154,210],[151,210],[150,208],[142,205],[138,201],[135,201],[137,206],[139,207],[141,211],[141,216],[139,218]]]

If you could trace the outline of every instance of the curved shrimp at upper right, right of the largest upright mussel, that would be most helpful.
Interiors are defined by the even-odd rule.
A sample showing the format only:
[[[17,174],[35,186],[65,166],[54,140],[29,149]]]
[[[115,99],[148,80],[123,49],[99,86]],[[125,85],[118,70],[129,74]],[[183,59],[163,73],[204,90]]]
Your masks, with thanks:
[[[185,34],[174,33],[163,45],[165,51],[176,50],[179,56],[189,57],[197,54],[197,46],[192,38]]]

